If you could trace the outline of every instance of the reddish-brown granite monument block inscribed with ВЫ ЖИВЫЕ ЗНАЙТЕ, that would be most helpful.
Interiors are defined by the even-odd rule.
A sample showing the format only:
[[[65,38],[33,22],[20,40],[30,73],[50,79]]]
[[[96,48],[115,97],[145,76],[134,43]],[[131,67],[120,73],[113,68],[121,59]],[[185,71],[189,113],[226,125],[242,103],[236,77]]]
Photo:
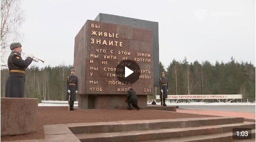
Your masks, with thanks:
[[[153,94],[153,44],[149,29],[87,20],[75,37],[78,94]],[[134,71],[125,77],[125,68]]]

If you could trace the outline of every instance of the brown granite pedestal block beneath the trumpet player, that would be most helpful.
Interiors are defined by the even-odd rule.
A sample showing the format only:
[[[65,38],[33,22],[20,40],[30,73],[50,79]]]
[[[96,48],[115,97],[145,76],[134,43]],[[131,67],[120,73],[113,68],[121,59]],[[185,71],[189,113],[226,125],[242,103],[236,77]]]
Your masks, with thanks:
[[[37,98],[1,97],[1,136],[36,131]]]

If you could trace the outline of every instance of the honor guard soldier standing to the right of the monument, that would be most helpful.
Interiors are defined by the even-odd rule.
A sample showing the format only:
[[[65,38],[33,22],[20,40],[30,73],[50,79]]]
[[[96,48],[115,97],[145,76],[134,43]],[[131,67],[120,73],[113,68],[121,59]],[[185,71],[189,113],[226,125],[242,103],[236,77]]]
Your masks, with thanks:
[[[165,104],[165,98],[167,98],[168,79],[164,76],[164,72],[161,72],[161,77],[159,78],[159,87],[160,87],[161,105],[167,106]]]

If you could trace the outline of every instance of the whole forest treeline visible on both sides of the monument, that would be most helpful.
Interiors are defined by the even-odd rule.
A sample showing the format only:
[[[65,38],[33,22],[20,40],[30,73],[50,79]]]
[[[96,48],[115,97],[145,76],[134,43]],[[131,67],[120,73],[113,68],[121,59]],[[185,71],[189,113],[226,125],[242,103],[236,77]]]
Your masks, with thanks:
[[[39,100],[65,100],[66,76],[72,65],[30,66],[25,75],[25,97]],[[251,62],[235,62],[234,58],[224,63],[216,61],[188,62],[173,59],[165,68],[159,62],[159,73],[168,78],[168,94],[242,94],[238,101],[255,101],[255,66]],[[1,96],[4,96],[7,69],[1,69]],[[159,74],[160,76],[160,74]],[[155,91],[155,90],[154,90]],[[156,87],[156,94],[159,88]],[[155,96],[149,96],[153,99]],[[188,101],[180,100],[180,101]],[[196,101],[196,100],[195,100]],[[197,99],[197,101],[200,101]],[[215,102],[215,99],[205,101]]]

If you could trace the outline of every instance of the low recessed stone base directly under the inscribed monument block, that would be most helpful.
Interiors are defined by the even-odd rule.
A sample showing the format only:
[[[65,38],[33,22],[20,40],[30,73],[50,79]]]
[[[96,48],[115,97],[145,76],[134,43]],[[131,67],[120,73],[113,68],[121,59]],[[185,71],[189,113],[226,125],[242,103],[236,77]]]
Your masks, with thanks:
[[[79,109],[116,109],[119,107],[127,107],[125,102],[126,95],[85,95],[77,94]],[[137,95],[138,105],[146,106],[146,95]]]

